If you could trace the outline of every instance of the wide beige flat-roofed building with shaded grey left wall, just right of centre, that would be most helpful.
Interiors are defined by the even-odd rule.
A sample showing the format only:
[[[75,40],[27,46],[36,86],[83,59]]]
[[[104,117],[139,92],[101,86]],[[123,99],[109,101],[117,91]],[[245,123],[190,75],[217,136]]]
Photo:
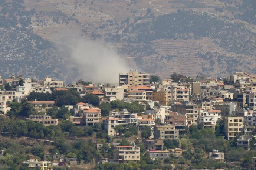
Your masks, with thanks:
[[[178,140],[179,130],[175,129],[175,125],[155,126],[154,138]]]

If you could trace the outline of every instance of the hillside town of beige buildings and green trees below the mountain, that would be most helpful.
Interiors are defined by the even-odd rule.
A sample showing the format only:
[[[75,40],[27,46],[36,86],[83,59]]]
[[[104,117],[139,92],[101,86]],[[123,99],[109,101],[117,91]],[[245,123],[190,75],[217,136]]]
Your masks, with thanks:
[[[110,75],[113,76],[113,75]],[[256,170],[256,77],[0,77],[0,169]]]

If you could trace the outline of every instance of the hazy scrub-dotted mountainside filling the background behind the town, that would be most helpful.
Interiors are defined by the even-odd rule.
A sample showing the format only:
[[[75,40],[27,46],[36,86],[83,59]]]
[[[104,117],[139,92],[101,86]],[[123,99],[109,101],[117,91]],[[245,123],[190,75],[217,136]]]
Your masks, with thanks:
[[[3,77],[92,80],[97,75],[93,73],[103,68],[96,67],[102,59],[93,50],[102,48],[111,58],[104,57],[104,70],[121,65],[165,77],[173,71],[217,77],[234,71],[256,73],[254,0],[0,0],[0,4]],[[83,45],[74,48],[70,38],[100,45],[92,51],[85,48],[77,60],[72,54]],[[79,64],[90,58],[94,64]],[[115,70],[112,74],[123,71]]]

